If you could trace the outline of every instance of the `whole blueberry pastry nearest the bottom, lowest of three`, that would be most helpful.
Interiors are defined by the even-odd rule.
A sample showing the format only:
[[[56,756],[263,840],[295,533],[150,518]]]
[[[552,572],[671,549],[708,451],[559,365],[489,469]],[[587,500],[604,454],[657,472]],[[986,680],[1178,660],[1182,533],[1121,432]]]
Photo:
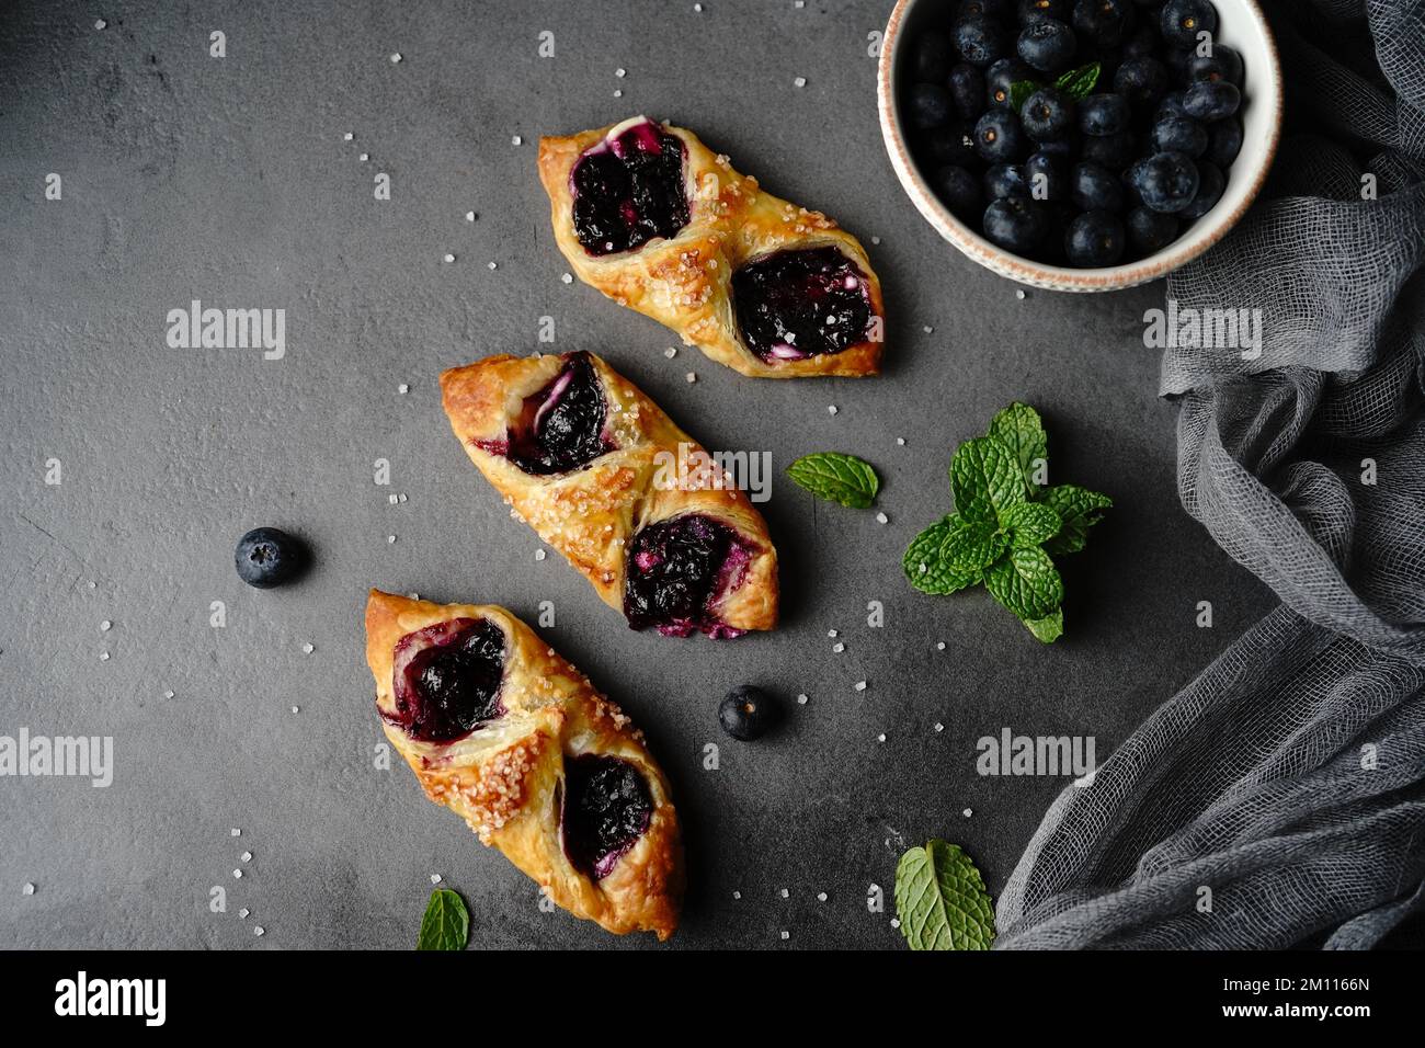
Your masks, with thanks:
[[[569,913],[668,938],[683,844],[668,783],[617,706],[503,607],[372,590],[366,662],[426,796]]]

